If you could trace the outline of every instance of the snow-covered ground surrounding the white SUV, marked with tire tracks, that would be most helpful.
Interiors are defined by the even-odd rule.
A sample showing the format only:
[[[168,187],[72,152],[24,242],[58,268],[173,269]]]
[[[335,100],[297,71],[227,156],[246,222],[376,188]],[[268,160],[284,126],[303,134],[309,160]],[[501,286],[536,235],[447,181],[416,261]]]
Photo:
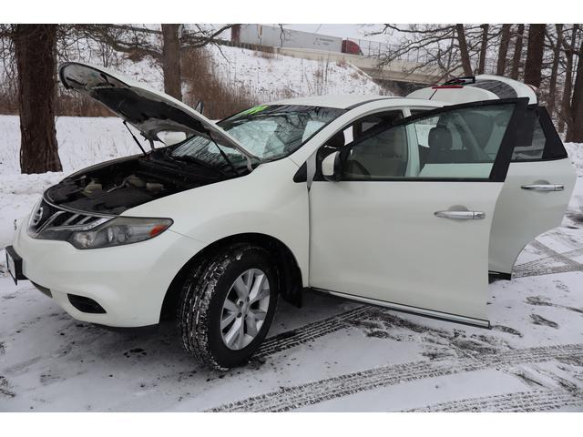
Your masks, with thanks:
[[[10,130],[12,129],[12,130]],[[64,173],[19,175],[15,117],[0,117],[0,247],[66,173],[135,153],[118,119],[57,121]],[[16,134],[15,134],[16,132]],[[568,145],[583,174],[583,145]],[[3,411],[583,411],[583,179],[563,226],[490,285],[492,330],[309,293],[281,303],[261,352],[219,373],[173,326],[113,332],[71,319],[0,253]]]

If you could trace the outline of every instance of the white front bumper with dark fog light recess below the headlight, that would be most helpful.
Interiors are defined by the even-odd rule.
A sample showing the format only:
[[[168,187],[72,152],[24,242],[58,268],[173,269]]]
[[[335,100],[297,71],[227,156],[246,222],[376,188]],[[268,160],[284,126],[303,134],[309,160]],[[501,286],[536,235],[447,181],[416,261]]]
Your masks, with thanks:
[[[75,319],[120,328],[159,323],[170,282],[204,247],[169,229],[139,243],[79,250],[65,241],[33,239],[25,227],[23,220],[14,241],[24,276],[50,290]],[[77,310],[69,295],[94,300],[105,313]]]

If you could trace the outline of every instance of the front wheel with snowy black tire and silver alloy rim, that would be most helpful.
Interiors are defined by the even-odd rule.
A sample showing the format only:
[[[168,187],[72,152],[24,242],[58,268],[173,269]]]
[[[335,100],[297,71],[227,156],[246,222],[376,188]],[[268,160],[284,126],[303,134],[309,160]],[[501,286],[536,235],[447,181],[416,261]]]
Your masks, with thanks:
[[[277,307],[279,280],[270,259],[271,254],[266,249],[239,243],[216,252],[187,273],[182,285],[177,320],[182,347],[189,355],[221,371],[249,361],[265,339]],[[251,278],[251,275],[255,275],[254,280],[263,284],[261,296],[264,297],[255,303],[245,303],[244,300],[240,301],[240,288],[235,286],[235,281]],[[269,293],[265,290],[265,280],[268,281]],[[251,280],[251,283],[255,282]],[[252,290],[249,294],[252,294]],[[269,300],[266,303],[265,297],[268,294]],[[226,309],[228,298],[231,302],[229,309]],[[221,329],[221,321],[228,321],[236,313],[230,311],[235,299],[241,312]],[[261,309],[258,307],[260,304]],[[264,319],[256,320],[256,315]],[[256,320],[254,338],[249,335],[248,317]],[[237,327],[244,326],[247,332],[232,340],[230,332],[234,330],[240,333],[235,323],[238,323]],[[261,327],[258,327],[260,323]],[[227,344],[229,340],[232,340],[230,345]]]

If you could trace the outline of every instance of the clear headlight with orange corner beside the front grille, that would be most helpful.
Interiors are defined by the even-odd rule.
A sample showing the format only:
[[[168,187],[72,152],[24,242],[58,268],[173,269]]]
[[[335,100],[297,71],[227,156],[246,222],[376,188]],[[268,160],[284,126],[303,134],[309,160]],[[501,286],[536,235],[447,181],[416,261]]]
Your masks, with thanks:
[[[99,221],[90,229],[46,229],[38,238],[68,241],[77,249],[110,248],[153,239],[169,229],[172,223],[171,219],[118,217]]]

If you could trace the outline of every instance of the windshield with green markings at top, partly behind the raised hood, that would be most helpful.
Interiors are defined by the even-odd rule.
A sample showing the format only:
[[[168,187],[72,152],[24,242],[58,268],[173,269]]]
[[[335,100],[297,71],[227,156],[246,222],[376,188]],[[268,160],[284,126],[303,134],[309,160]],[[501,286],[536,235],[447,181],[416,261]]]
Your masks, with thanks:
[[[324,125],[345,112],[332,107],[261,105],[226,118],[218,125],[235,137],[261,161],[287,157]],[[221,153],[221,149],[222,152]],[[232,147],[215,144],[205,137],[189,137],[170,151],[172,158],[187,158],[224,167],[246,164],[246,158]]]

